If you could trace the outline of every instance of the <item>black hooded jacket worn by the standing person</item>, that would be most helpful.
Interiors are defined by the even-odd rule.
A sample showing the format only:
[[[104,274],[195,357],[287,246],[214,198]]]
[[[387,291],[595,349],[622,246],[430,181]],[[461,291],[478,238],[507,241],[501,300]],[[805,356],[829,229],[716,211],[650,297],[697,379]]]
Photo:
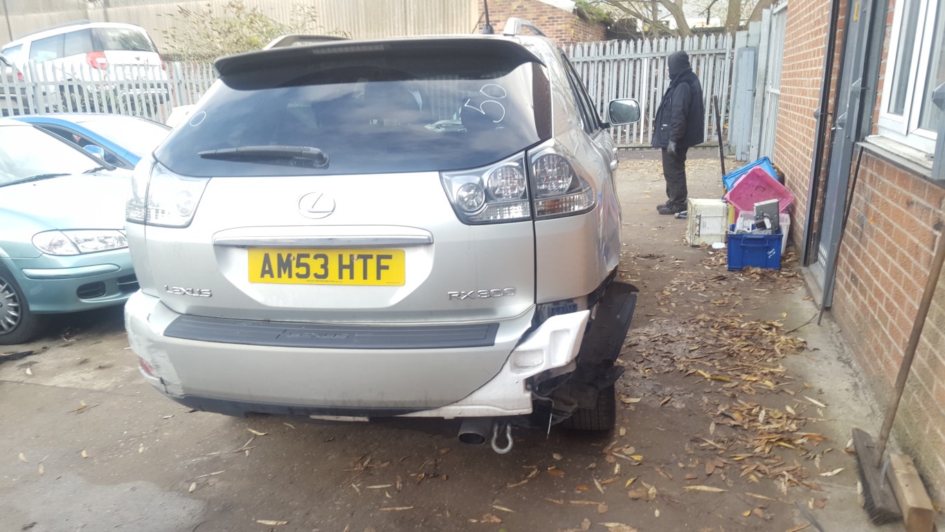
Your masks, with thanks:
[[[670,83],[656,112],[653,146],[666,147],[669,141],[679,148],[696,146],[705,140],[702,85],[685,52],[673,52],[668,62]]]

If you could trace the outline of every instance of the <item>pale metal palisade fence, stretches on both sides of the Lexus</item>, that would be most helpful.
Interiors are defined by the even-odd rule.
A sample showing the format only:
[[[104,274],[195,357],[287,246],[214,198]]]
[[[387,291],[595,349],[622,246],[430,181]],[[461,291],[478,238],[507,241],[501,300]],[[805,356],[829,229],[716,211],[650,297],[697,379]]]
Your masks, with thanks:
[[[612,129],[621,147],[649,146],[653,120],[669,82],[666,59],[685,50],[702,83],[705,102],[705,138],[714,144],[712,97],[721,104],[723,134],[727,134],[732,39],[703,35],[687,39],[577,43],[565,53],[587,86],[601,116],[611,99],[635,98],[642,118],[636,124]],[[163,122],[171,110],[196,103],[215,81],[212,64],[166,62],[158,67],[110,65],[105,72],[89,65],[68,72],[28,64],[23,79],[4,67],[0,72],[0,112],[4,116],[37,112],[116,112]],[[723,141],[724,142],[724,141]]]

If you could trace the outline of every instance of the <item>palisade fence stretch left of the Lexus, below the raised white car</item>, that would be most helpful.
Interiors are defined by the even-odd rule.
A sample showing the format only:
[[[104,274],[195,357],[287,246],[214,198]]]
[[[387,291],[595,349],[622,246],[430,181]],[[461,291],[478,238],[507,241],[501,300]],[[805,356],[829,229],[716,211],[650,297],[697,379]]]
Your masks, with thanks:
[[[0,68],[0,114],[114,112],[163,122],[175,107],[197,103],[216,78],[211,64],[27,63]]]

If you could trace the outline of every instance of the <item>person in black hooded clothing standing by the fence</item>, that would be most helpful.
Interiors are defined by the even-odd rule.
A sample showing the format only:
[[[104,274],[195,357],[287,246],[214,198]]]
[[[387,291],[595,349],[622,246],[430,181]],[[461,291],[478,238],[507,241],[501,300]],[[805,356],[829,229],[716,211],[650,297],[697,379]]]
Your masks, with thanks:
[[[669,88],[662,95],[656,112],[653,146],[662,147],[662,175],[666,179],[666,197],[657,205],[661,215],[686,210],[686,150],[705,140],[705,108],[702,85],[682,51],[669,56]]]

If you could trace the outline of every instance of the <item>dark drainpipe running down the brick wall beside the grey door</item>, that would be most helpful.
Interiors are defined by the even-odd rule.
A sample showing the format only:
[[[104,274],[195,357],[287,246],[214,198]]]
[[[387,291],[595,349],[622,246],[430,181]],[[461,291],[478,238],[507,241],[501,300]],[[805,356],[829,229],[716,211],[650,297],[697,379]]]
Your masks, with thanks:
[[[820,187],[820,172],[823,168],[824,134],[827,130],[827,118],[831,114],[827,111],[827,108],[830,103],[831,80],[833,78],[833,51],[836,48],[836,28],[839,13],[840,0],[832,0],[830,5],[830,14],[828,15],[830,26],[827,28],[827,52],[824,56],[824,69],[823,74],[821,75],[823,83],[820,85],[820,96],[817,101],[818,107],[816,111],[816,133],[814,136],[814,160],[811,162],[811,179],[807,185],[807,210],[805,211],[804,219],[804,237],[800,247],[800,264],[803,266],[809,266],[816,259],[816,248],[815,243],[813,242],[814,223],[812,220],[814,219],[814,208],[816,206],[816,198],[818,196],[817,189]],[[844,40],[844,43],[846,44],[846,39]],[[840,67],[841,69],[843,68],[842,55],[840,57]],[[839,72],[839,75],[843,76],[842,70]],[[833,111],[835,112],[836,110],[834,109]],[[831,138],[833,138],[833,135],[831,135]]]

